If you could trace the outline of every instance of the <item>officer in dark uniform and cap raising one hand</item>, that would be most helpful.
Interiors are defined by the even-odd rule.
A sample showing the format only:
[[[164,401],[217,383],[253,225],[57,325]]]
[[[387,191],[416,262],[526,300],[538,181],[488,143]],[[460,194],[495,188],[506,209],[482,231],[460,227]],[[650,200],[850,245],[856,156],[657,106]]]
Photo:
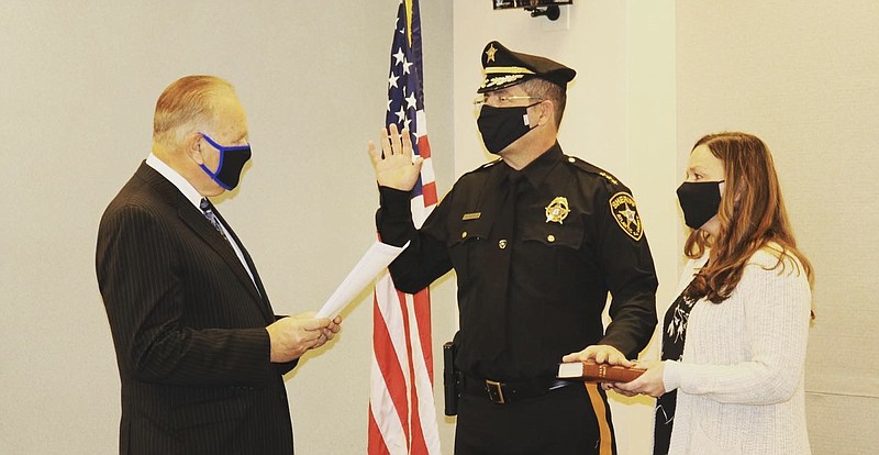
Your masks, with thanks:
[[[456,454],[615,453],[604,391],[555,373],[563,357],[627,365],[653,334],[657,280],[637,204],[556,141],[572,69],[498,42],[482,67],[478,126],[500,159],[464,175],[422,229],[408,132],[392,125],[380,149],[370,144],[381,238],[411,242],[393,281],[416,292],[457,274]]]

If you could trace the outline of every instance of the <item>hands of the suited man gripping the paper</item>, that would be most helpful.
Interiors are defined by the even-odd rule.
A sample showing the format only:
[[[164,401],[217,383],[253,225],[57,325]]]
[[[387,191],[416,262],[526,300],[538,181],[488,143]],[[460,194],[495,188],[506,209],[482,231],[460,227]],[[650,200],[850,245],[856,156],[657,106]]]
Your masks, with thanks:
[[[281,318],[266,328],[271,344],[271,362],[291,362],[318,344],[323,329],[330,326],[330,319],[314,318],[311,314],[297,314]]]

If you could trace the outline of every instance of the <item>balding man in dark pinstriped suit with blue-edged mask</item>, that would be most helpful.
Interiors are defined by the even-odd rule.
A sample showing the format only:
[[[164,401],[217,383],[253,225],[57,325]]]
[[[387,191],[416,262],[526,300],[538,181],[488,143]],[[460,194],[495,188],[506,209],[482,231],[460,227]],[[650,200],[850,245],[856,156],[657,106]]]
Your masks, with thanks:
[[[110,202],[97,274],[122,381],[122,454],[290,454],[282,375],[340,319],[274,315],[207,197],[251,156],[233,87],[188,76],[158,99],[148,158]]]

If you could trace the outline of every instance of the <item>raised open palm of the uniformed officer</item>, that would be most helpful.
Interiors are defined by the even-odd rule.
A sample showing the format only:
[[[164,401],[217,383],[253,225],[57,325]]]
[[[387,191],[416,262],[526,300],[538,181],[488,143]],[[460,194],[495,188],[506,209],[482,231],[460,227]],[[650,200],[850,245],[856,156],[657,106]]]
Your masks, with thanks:
[[[388,130],[381,129],[380,134],[381,151],[369,141],[369,157],[372,159],[372,168],[376,169],[378,185],[410,191],[419,180],[424,158],[419,156],[412,160],[412,140],[409,130],[400,133],[397,131],[397,125],[391,124]]]

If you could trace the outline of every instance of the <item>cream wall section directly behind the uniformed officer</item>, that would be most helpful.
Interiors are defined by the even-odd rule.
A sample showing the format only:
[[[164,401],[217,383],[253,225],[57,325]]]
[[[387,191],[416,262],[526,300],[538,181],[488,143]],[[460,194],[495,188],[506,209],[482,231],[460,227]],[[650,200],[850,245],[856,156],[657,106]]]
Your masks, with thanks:
[[[665,312],[680,256],[674,241],[674,2],[575,3],[561,7],[559,24],[522,10],[493,11],[489,1],[455,1],[455,173],[491,159],[479,140],[471,104],[481,82],[480,53],[489,41],[576,69],[559,143],[565,153],[609,170],[632,188],[659,274],[657,304]],[[653,400],[613,396],[611,408],[619,453],[646,453]]]

